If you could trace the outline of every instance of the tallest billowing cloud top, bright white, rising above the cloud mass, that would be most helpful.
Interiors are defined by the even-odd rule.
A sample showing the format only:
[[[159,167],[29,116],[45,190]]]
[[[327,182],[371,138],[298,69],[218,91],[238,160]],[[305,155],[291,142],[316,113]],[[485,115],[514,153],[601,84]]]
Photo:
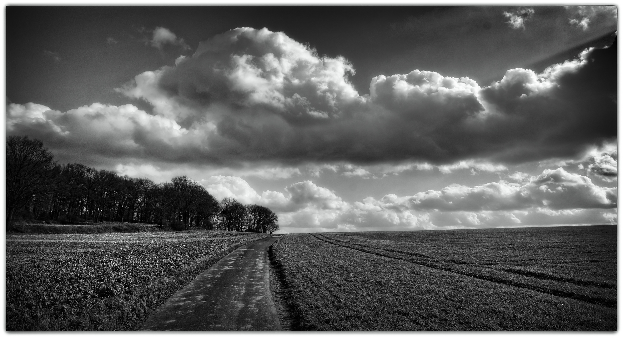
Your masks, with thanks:
[[[323,120],[358,98],[346,79],[353,72],[343,57],[319,57],[282,32],[238,28],[200,42],[193,57],[179,59],[176,67],[138,75],[120,91],[163,115],[177,105],[227,102],[290,122]]]

